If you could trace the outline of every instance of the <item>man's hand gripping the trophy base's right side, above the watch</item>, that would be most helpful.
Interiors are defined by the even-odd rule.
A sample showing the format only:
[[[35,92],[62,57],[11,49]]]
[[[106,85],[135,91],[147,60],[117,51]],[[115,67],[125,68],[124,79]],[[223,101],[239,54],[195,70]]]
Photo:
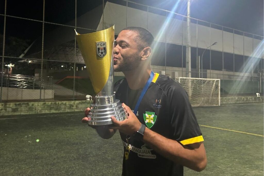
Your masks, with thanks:
[[[136,115],[132,112],[130,107],[126,106],[125,103],[122,103],[122,106],[128,113],[128,118],[120,122],[116,120],[114,116],[112,116],[111,119],[115,127],[110,127],[110,129],[119,130],[120,132],[126,135],[133,135],[136,131],[140,129],[141,123],[136,117]]]

